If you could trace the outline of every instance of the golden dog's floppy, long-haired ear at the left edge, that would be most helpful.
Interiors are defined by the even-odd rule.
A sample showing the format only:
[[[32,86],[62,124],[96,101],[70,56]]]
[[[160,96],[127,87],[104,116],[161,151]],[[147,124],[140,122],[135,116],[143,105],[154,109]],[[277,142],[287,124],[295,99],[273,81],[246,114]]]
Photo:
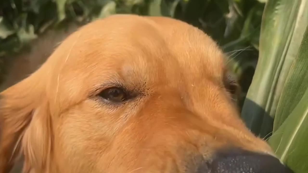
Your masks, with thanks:
[[[34,73],[0,93],[0,173],[9,172],[21,152],[24,172],[45,166],[51,140],[42,79]]]

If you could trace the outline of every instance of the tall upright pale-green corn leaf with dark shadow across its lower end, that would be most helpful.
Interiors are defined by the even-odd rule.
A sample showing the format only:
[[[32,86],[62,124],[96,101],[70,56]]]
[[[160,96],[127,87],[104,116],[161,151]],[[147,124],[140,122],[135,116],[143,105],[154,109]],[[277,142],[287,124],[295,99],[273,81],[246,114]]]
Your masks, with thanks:
[[[273,130],[282,87],[308,24],[307,8],[306,0],[269,0],[265,5],[258,64],[242,109],[246,125],[261,137]]]

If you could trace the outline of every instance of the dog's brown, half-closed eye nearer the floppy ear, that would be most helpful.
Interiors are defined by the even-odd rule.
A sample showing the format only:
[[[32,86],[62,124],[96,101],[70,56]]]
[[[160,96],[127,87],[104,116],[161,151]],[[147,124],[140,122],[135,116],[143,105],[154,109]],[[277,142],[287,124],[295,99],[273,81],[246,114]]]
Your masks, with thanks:
[[[122,102],[127,99],[128,95],[124,89],[120,87],[112,87],[103,90],[99,93],[99,96],[111,102]]]

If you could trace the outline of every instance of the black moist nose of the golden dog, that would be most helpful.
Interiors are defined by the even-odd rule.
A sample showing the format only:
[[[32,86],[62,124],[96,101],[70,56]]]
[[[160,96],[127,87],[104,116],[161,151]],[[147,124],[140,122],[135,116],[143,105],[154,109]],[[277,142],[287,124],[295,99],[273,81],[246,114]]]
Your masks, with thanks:
[[[293,173],[293,171],[271,155],[229,149],[218,151],[211,161],[199,167],[197,173]]]

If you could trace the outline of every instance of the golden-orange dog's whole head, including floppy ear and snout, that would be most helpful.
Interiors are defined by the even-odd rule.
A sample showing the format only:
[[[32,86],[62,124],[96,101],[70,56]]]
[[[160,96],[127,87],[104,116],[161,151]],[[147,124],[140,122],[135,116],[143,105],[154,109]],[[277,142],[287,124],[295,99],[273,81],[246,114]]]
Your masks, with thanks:
[[[241,121],[237,93],[201,30],[164,17],[97,20],[1,93],[0,172],[18,152],[34,173],[224,173],[260,158],[284,169]]]

